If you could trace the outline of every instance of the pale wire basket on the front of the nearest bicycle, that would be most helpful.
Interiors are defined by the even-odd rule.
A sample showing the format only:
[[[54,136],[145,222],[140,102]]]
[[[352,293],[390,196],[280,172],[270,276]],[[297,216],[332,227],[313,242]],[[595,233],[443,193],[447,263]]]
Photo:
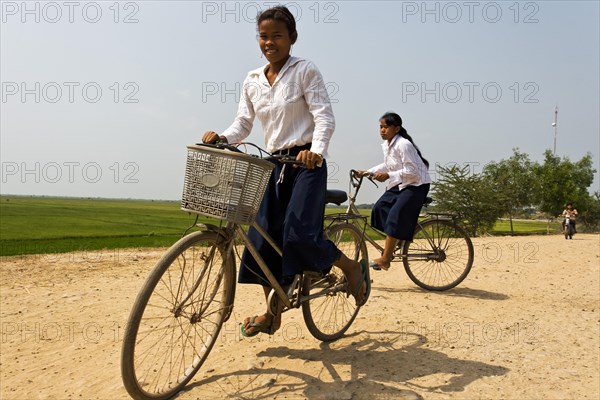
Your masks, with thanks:
[[[207,146],[187,149],[181,209],[240,224],[254,222],[274,164]]]

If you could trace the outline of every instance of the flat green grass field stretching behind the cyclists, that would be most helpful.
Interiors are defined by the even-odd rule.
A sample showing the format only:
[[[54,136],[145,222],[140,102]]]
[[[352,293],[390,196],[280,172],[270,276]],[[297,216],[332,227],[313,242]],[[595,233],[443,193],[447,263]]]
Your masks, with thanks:
[[[344,211],[328,208],[326,212]],[[360,212],[369,221],[370,210]],[[0,256],[170,246],[195,217],[181,211],[177,201],[2,195]],[[200,217],[199,222],[219,224],[207,217]],[[519,235],[547,232],[545,221],[517,220],[513,227]],[[558,233],[560,224],[550,228],[551,233]],[[491,233],[509,235],[509,222],[498,221]]]

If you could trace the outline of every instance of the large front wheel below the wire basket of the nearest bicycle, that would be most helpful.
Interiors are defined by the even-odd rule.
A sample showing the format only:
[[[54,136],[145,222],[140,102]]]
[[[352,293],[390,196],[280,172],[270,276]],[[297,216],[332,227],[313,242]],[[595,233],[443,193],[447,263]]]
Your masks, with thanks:
[[[233,307],[234,258],[222,242],[214,232],[183,237],[138,294],[121,355],[123,383],[134,399],[172,397],[206,360]]]

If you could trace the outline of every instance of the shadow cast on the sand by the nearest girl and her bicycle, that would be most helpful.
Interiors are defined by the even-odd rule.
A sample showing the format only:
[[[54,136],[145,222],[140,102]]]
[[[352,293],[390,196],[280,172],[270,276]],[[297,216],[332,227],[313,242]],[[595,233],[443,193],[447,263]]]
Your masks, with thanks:
[[[195,382],[186,392],[199,398],[208,390],[213,397],[234,399],[272,399],[282,395],[311,400],[419,400],[431,392],[462,392],[478,379],[509,371],[429,349],[423,335],[391,331],[368,335],[346,336],[338,342],[321,343],[318,349],[268,348],[258,353],[259,359],[268,360],[268,365],[250,369],[232,365],[231,372]],[[277,367],[289,366],[289,360],[293,360],[293,369]],[[322,364],[317,376],[303,372],[302,366],[307,363]],[[310,369],[315,370],[314,366]]]

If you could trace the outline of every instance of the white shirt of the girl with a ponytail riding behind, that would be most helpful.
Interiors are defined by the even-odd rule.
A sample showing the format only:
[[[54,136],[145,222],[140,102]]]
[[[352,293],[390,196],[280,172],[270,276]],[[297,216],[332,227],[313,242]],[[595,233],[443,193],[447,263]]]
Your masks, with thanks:
[[[420,186],[431,183],[427,166],[408,139],[396,135],[391,142],[385,140],[381,144],[381,148],[383,163],[370,168],[368,172],[387,172],[390,179],[386,189],[399,185],[398,189],[402,190],[409,185]]]

